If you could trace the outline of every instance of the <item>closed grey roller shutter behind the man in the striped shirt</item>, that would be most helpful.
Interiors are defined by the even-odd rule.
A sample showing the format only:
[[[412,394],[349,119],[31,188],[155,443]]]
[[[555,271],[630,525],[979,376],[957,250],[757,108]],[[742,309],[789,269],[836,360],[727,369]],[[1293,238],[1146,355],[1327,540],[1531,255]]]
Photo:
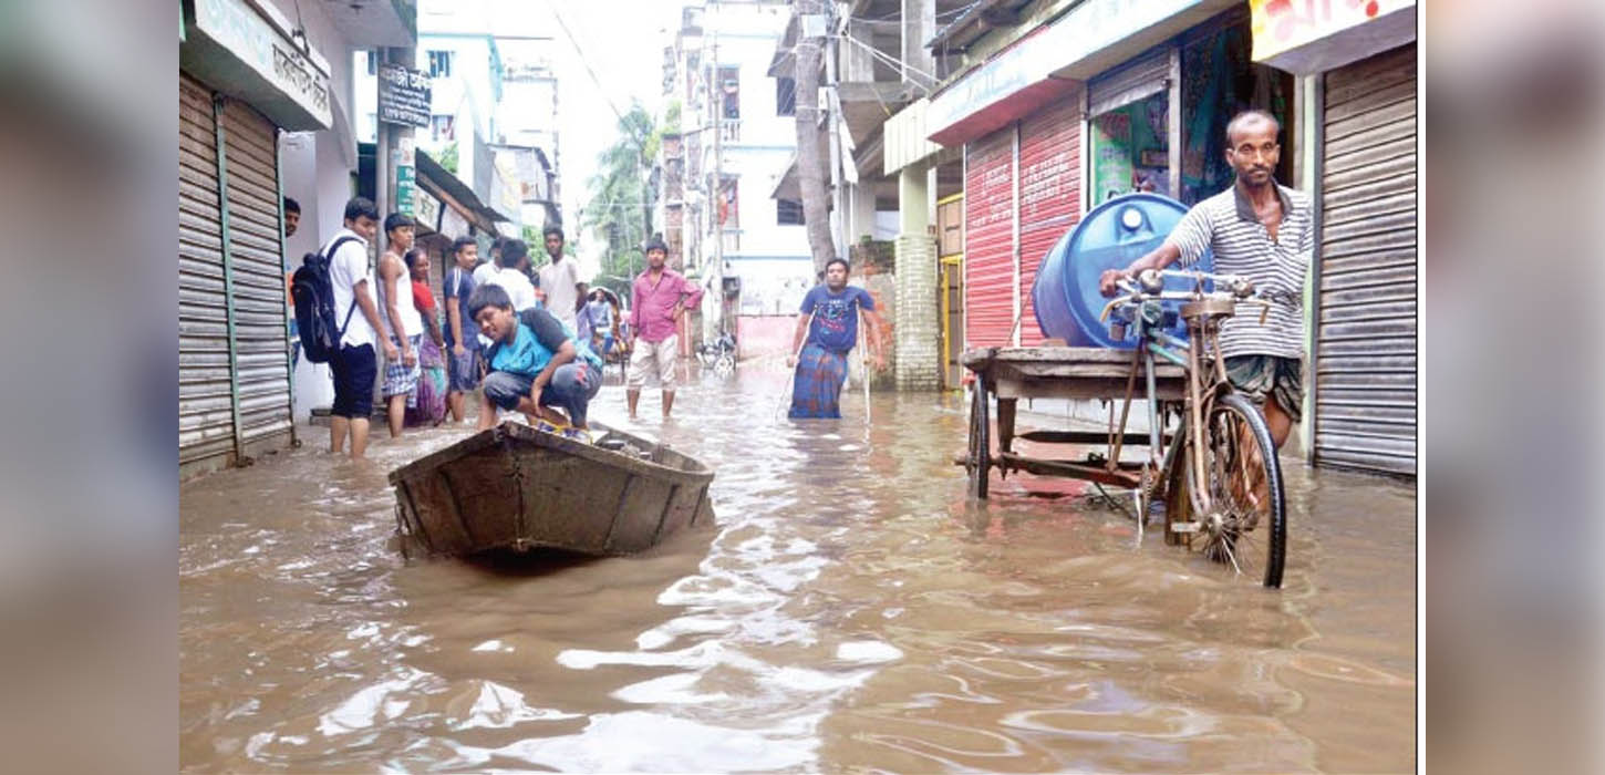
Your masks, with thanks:
[[[1324,79],[1314,457],[1416,472],[1416,47]]]

